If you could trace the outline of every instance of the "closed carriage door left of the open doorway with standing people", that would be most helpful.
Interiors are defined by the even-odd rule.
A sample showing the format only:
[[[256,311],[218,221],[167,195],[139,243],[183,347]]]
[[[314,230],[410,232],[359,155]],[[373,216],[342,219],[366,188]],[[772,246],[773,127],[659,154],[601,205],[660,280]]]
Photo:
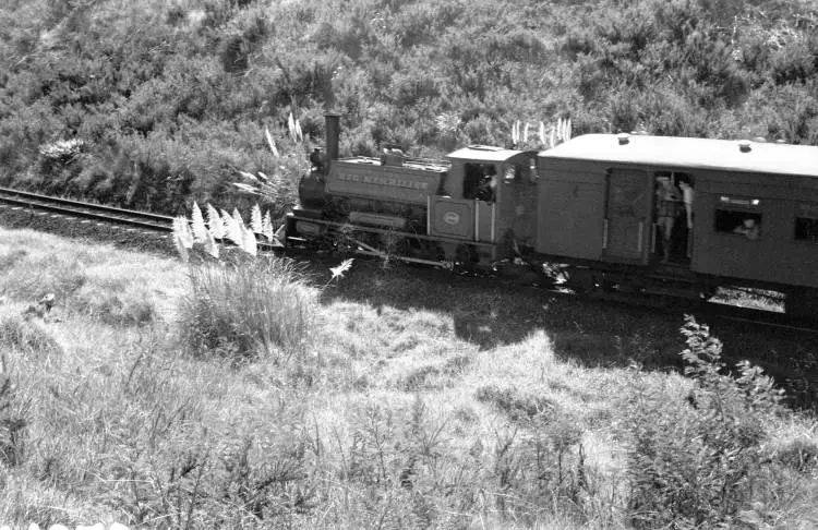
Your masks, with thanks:
[[[603,255],[614,261],[647,263],[651,182],[646,171],[608,172],[608,207]]]

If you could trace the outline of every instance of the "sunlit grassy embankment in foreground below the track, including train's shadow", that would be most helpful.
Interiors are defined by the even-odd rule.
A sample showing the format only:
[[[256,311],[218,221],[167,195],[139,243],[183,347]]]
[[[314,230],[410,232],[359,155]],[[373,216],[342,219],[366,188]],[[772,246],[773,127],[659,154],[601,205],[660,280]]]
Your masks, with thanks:
[[[695,380],[666,370],[681,323],[424,270],[357,263],[327,285],[236,260],[189,275],[26,230],[0,240],[0,522],[818,520],[815,422],[747,370],[696,363],[712,345],[691,342]],[[50,312],[27,311],[47,292]]]

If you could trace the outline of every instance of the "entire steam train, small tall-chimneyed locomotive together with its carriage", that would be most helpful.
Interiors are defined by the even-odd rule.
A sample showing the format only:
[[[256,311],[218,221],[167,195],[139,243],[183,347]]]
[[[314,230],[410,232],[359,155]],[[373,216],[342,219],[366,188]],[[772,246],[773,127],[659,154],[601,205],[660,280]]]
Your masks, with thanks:
[[[707,299],[743,286],[784,293],[787,313],[818,310],[818,147],[587,134],[539,153],[339,158],[338,116],[326,134],[287,244],[442,266],[557,263],[579,290]]]

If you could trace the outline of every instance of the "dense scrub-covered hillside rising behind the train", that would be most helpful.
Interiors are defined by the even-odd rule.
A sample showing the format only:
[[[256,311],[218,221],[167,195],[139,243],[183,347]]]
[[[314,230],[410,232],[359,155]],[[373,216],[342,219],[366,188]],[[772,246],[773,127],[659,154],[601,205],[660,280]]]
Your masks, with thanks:
[[[225,204],[239,169],[294,180],[325,110],[347,153],[504,144],[516,119],[565,117],[816,145],[817,70],[816,0],[7,0],[0,183]]]

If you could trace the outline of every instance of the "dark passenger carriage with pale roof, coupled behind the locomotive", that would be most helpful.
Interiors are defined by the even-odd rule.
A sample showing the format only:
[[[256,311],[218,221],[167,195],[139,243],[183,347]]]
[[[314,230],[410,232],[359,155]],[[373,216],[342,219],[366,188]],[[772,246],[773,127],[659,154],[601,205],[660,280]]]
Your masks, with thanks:
[[[536,252],[567,260],[587,288],[709,296],[718,286],[784,292],[816,309],[818,147],[647,135],[578,136],[538,157]],[[667,263],[657,179],[694,190]],[[679,209],[679,213],[683,209]]]

